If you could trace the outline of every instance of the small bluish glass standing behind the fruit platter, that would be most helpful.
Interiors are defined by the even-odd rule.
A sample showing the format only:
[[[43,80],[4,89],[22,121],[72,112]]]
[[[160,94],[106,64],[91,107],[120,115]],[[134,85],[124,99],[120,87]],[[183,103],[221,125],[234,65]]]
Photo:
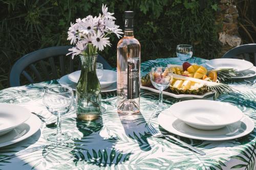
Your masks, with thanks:
[[[192,45],[187,45],[187,44],[177,45],[176,54],[177,54],[177,57],[181,61],[184,62],[184,61],[186,61],[186,60],[188,60],[192,57],[192,55],[193,55],[193,46]]]

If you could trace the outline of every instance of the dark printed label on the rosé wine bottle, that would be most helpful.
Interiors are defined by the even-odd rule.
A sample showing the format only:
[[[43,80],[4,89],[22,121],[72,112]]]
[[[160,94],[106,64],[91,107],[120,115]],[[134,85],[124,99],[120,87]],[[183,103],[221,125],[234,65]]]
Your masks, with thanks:
[[[140,96],[140,60],[132,58],[127,61],[127,99],[136,99]]]

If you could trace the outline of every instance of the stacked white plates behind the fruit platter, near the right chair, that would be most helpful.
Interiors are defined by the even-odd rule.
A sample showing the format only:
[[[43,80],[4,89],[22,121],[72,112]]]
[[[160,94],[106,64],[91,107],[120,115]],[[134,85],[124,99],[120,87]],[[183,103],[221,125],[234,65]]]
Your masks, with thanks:
[[[256,67],[246,60],[231,59],[231,58],[220,58],[206,61],[206,65],[214,69],[221,68],[233,68],[238,72],[236,77],[233,79],[244,79],[256,76]]]

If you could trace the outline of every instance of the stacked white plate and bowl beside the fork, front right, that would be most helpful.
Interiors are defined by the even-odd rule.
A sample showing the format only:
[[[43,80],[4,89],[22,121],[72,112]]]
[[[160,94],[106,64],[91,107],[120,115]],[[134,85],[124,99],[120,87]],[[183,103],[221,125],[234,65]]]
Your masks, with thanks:
[[[247,135],[253,121],[228,103],[209,100],[178,102],[158,116],[170,133],[200,140],[228,140]]]

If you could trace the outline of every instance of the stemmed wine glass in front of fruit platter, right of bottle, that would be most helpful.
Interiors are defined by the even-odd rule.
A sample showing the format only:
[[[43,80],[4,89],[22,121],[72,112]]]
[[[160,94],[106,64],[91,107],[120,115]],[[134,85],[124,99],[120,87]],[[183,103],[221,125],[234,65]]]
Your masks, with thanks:
[[[173,80],[173,72],[168,67],[153,67],[150,72],[150,80],[153,86],[160,91],[158,106],[160,110],[168,106],[163,104],[163,90],[169,87]]]

